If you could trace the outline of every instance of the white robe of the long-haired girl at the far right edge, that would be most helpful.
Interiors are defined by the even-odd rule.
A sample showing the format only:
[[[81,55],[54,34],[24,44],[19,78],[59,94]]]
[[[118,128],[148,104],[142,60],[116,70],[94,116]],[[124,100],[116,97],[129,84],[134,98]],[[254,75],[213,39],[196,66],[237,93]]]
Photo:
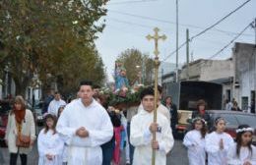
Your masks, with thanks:
[[[236,154],[236,143],[228,149],[227,153],[227,164],[228,165],[243,165],[246,161],[252,165],[256,165],[256,147],[251,145],[252,152],[248,147],[241,146],[240,154]]]

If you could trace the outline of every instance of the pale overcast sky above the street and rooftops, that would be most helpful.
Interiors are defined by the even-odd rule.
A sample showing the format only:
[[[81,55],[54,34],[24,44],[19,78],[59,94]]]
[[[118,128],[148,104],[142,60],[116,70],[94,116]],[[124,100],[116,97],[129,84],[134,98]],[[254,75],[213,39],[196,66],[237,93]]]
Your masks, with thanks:
[[[223,19],[228,13],[246,0],[178,0],[179,45],[186,40],[186,28],[193,36]],[[121,52],[137,48],[154,58],[154,42],[146,39],[159,27],[160,34],[167,39],[160,41],[160,60],[175,63],[176,49],[176,0],[110,0],[107,3],[107,16],[102,18],[106,27],[98,33],[96,48],[101,55],[109,81],[114,62]],[[228,44],[239,32],[256,18],[256,0],[251,0],[241,9],[230,15],[216,27],[208,30],[190,42],[190,58],[194,60],[212,57]],[[255,42],[255,30],[248,27],[236,42]],[[213,59],[226,59],[231,56],[228,46]],[[179,63],[186,62],[186,46],[178,52]],[[135,67],[135,66],[131,66]]]

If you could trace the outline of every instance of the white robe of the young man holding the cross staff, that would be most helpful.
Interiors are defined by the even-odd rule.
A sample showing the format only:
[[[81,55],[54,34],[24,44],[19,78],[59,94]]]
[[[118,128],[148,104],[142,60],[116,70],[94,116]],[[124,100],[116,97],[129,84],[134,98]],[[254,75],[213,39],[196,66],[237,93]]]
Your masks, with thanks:
[[[154,112],[149,113],[142,109],[131,121],[130,141],[135,146],[133,165],[152,164],[152,145],[153,138],[149,128],[153,123]],[[159,131],[157,140],[160,149],[156,150],[156,164],[166,165],[166,153],[173,147],[174,139],[167,119],[158,112],[157,123]]]

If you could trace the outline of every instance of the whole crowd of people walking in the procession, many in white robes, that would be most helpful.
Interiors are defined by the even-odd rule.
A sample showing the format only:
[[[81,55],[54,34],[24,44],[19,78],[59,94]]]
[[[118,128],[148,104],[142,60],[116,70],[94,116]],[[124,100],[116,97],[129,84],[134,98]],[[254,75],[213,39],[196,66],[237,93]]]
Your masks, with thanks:
[[[166,155],[173,147],[178,122],[177,108],[171,96],[161,103],[159,86],[158,115],[154,122],[152,86],[142,90],[141,104],[132,117],[128,117],[128,111],[108,106],[106,96],[97,89],[92,82],[83,81],[77,98],[69,103],[55,92],[43,115],[44,128],[37,138],[32,111],[26,109],[22,96],[16,96],[5,137],[10,165],[17,164],[18,156],[22,165],[27,165],[27,155],[35,141],[39,165],[121,165],[122,151],[126,153],[126,164],[150,165],[153,150],[156,151],[156,164],[166,165]],[[217,118],[215,130],[210,132],[206,102],[199,100],[197,108],[183,139],[190,165],[256,165],[253,128],[240,125],[234,142],[224,133],[224,118]],[[154,134],[156,140],[152,138]]]

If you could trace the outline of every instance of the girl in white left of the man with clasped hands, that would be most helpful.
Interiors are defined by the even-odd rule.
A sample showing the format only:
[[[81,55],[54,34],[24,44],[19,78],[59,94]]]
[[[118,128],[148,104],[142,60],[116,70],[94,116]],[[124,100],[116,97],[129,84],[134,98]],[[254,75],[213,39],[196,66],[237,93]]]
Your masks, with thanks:
[[[57,119],[51,114],[45,116],[45,127],[37,139],[39,161],[38,165],[62,165],[64,142],[56,133]]]

